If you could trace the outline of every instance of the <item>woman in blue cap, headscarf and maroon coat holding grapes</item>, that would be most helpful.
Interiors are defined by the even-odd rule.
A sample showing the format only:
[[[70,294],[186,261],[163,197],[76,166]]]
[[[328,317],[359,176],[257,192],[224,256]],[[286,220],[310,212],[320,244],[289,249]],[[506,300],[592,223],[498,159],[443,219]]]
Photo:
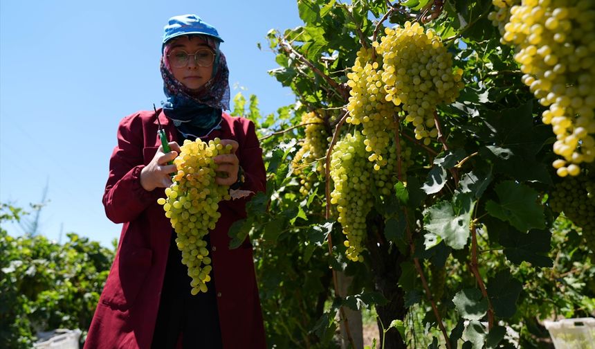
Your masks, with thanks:
[[[180,152],[178,144],[196,137],[218,137],[233,147],[214,159],[227,173],[217,184],[264,190],[254,124],[222,112],[229,109],[229,73],[221,42],[196,15],[172,17],[162,45],[163,109],[120,121],[103,203],[107,217],[123,227],[85,348],[265,348],[252,245],[228,247],[230,226],[246,216],[249,197],[219,203],[221,217],[208,234],[212,280],[196,296],[172,243],[176,233],[156,203],[172,184],[175,165],[167,163]],[[171,152],[163,152],[158,123]]]

